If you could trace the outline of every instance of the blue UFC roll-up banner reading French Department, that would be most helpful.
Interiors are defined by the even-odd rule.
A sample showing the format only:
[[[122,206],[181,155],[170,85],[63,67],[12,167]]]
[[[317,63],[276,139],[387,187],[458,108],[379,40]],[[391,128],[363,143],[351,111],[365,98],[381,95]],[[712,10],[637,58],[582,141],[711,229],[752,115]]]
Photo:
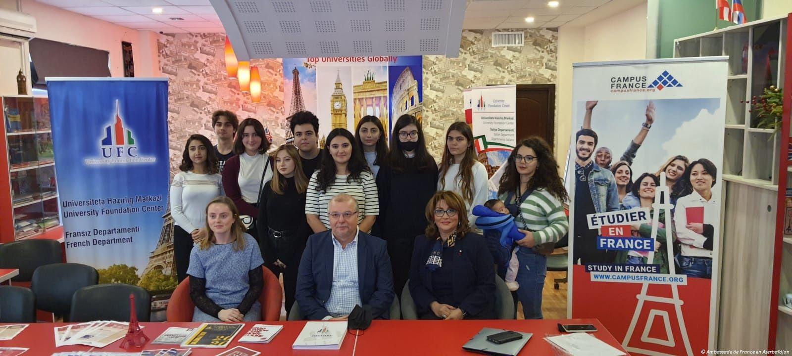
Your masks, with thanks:
[[[99,282],[176,286],[155,253],[168,203],[168,81],[47,78],[68,262]],[[167,255],[167,254],[166,254]]]

